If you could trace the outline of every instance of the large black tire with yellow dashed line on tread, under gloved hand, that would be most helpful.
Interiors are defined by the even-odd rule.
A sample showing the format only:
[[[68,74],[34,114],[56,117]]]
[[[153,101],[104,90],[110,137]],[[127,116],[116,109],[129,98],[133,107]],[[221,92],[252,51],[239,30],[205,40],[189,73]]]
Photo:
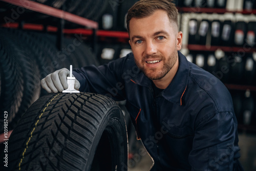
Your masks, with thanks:
[[[115,101],[102,95],[59,93],[41,97],[12,132],[8,167],[3,164],[1,167],[1,170],[127,170],[123,114]]]

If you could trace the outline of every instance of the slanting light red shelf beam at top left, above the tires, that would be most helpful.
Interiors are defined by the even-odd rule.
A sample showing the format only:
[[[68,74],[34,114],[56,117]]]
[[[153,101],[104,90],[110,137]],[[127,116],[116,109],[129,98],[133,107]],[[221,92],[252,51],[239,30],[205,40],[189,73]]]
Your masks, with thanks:
[[[12,4],[12,5],[16,5],[19,7],[23,7],[28,10],[39,12],[42,14],[65,19],[71,23],[75,23],[75,24],[78,24],[81,26],[86,26],[86,27],[89,27],[92,29],[98,28],[98,23],[94,22],[93,20],[83,18],[81,16],[78,16],[78,15],[75,15],[75,14],[60,10],[60,9],[56,9],[56,8],[53,8],[53,7],[44,5],[44,4],[40,4],[37,2],[28,1],[28,0],[0,0],[0,1]]]

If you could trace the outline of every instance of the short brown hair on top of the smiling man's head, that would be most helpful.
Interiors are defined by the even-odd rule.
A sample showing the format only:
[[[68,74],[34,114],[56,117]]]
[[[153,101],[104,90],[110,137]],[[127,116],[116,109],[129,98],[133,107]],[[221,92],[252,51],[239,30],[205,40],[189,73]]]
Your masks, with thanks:
[[[130,20],[132,18],[143,18],[152,15],[156,10],[167,12],[170,22],[178,26],[178,9],[173,0],[141,0],[135,3],[128,11],[126,18],[127,31],[129,32]]]

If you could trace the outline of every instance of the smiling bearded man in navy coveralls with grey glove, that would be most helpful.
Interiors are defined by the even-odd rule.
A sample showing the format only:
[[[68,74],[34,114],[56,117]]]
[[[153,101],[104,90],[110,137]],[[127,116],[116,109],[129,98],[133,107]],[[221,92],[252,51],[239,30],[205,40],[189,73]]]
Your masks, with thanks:
[[[179,50],[178,10],[168,0],[141,0],[127,14],[133,53],[108,65],[75,69],[75,88],[126,99],[152,170],[242,170],[237,120],[228,90]],[[67,69],[41,80],[68,88]]]

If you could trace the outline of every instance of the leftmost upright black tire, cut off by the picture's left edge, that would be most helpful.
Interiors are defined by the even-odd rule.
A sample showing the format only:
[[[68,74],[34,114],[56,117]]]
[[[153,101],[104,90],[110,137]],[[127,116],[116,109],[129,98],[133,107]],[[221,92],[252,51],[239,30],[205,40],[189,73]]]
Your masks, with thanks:
[[[10,55],[6,46],[6,36],[0,33],[0,75],[1,75],[1,95],[0,95],[0,133],[4,132],[4,111],[9,114],[8,120],[12,122],[15,117],[23,97],[23,74],[18,61]]]

